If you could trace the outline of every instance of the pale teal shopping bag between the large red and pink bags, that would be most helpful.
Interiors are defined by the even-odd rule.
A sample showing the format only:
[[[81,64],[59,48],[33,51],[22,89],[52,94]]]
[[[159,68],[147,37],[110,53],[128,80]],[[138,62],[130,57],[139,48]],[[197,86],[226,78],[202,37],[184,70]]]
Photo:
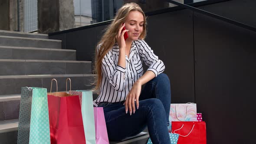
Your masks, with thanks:
[[[69,91],[69,94],[79,95],[86,144],[96,144],[92,91]]]

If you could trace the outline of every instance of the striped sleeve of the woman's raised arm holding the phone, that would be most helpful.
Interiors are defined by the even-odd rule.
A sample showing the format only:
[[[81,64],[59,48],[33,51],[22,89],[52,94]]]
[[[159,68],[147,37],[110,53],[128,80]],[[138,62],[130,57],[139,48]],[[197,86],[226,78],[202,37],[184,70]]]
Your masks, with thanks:
[[[116,91],[121,92],[125,88],[126,68],[116,65],[112,55],[112,50],[110,50],[102,59],[102,72],[110,85]]]

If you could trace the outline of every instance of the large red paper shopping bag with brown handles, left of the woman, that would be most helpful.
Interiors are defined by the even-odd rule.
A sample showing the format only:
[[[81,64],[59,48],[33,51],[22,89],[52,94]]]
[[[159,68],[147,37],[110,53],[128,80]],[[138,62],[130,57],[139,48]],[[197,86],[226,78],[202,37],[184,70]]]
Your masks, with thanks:
[[[54,92],[47,97],[51,144],[85,144],[79,96]]]

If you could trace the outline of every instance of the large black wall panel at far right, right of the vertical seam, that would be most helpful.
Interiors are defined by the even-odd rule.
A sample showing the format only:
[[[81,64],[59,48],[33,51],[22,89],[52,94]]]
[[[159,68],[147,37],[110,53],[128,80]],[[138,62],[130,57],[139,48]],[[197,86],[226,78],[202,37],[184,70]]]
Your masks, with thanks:
[[[254,144],[256,33],[194,14],[195,95],[207,144]]]

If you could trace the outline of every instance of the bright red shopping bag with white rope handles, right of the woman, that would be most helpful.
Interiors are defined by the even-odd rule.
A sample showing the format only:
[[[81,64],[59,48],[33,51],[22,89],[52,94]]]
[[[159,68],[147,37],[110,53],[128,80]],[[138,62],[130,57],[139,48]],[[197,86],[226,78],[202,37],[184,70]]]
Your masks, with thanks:
[[[206,144],[204,121],[173,121],[172,133],[179,134],[177,144]]]

